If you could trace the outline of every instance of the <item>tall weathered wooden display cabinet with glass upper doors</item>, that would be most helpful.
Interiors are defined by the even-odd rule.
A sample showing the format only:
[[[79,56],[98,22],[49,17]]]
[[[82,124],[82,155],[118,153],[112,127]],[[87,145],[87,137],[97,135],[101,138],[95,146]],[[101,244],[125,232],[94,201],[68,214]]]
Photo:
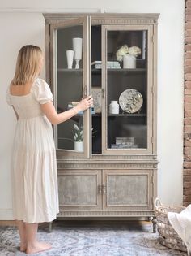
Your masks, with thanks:
[[[44,17],[46,80],[57,111],[89,94],[95,101],[94,108],[53,128],[57,217],[152,219],[155,232],[159,14]],[[74,50],[67,52],[74,53],[72,68],[67,50]]]

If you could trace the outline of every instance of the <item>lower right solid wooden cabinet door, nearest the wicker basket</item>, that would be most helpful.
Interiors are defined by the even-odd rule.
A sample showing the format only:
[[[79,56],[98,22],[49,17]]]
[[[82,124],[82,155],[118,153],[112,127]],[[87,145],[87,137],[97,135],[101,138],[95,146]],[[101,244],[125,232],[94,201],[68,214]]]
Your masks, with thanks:
[[[104,170],[104,210],[152,210],[153,170]]]

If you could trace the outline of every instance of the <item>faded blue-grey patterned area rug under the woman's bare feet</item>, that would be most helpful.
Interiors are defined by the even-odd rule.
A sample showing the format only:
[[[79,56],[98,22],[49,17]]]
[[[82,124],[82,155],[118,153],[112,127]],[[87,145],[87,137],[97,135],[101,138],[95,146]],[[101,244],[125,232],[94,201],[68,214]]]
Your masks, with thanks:
[[[39,228],[40,241],[49,241],[53,248],[40,256],[185,256],[160,245],[152,226],[143,227],[67,227],[53,226],[53,232]],[[16,228],[0,228],[0,256],[24,256],[19,252]]]

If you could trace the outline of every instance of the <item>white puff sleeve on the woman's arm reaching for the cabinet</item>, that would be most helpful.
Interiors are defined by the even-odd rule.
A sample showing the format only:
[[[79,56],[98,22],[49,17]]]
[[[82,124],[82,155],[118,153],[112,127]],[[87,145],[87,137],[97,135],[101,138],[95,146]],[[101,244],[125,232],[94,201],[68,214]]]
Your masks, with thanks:
[[[36,80],[36,85],[34,86],[33,94],[36,98],[36,101],[40,104],[45,104],[47,102],[53,101],[53,93],[51,93],[49,85],[45,82],[45,80]]]

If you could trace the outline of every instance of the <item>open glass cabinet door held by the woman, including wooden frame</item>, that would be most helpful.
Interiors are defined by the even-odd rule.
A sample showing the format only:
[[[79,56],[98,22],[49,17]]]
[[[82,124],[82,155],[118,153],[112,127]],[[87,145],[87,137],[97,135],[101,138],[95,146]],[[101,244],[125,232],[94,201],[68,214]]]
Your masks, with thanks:
[[[58,113],[69,110],[89,93],[87,17],[51,25],[54,104]],[[81,111],[54,128],[58,150],[87,157],[90,111]]]

